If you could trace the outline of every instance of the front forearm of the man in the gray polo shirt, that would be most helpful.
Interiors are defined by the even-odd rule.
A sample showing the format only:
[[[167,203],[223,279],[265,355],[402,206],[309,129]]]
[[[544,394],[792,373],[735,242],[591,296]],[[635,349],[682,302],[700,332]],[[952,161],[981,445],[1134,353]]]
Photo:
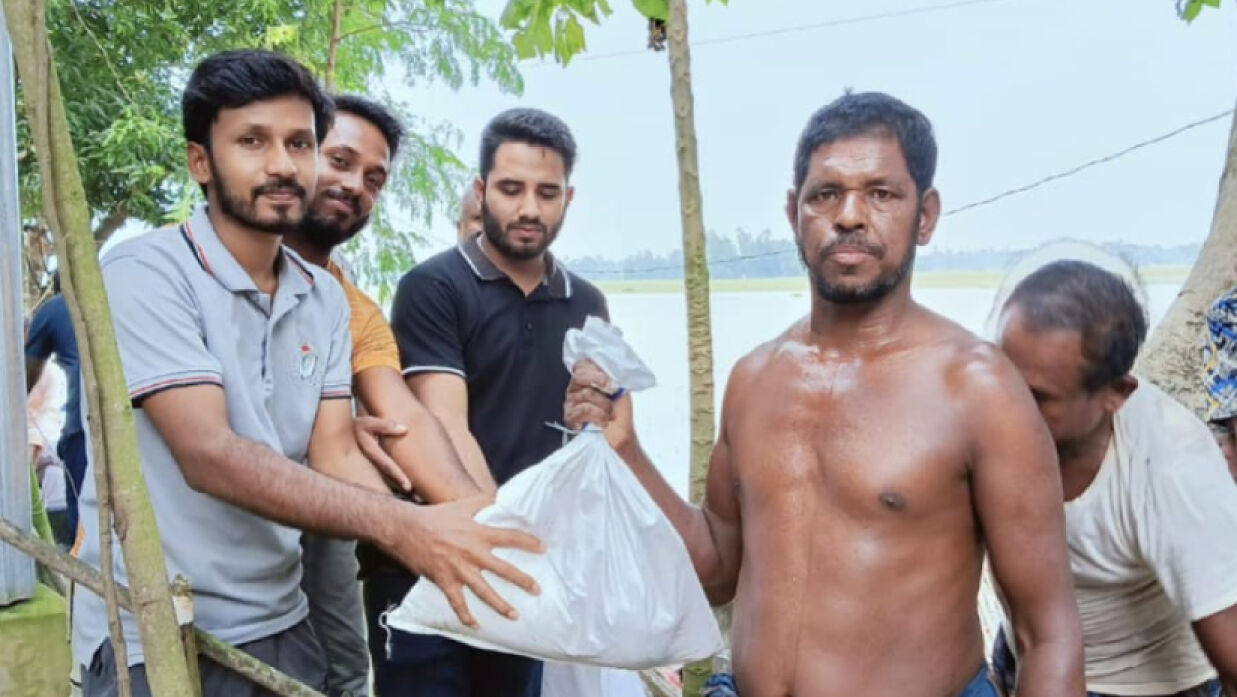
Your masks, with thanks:
[[[275,451],[230,437],[203,462],[182,463],[192,488],[276,522],[390,548],[390,506],[412,505],[313,472]]]

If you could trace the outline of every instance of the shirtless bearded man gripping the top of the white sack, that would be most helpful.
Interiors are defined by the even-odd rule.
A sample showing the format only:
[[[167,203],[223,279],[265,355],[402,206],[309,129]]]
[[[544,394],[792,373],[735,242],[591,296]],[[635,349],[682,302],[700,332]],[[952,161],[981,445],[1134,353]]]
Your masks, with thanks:
[[[1011,363],[910,298],[935,160],[928,119],[888,95],[813,115],[787,197],[811,312],[735,366],[703,508],[662,479],[596,366],[568,389],[567,420],[607,426],[710,600],[735,602],[743,697],[995,696],[985,547],[1019,697],[1084,693],[1053,441]]]

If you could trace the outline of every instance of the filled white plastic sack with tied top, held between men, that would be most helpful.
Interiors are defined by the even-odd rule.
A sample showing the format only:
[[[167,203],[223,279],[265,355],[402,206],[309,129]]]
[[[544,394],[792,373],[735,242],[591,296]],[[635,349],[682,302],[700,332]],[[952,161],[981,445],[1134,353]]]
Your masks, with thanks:
[[[591,359],[620,386],[654,384],[622,334],[590,317],[564,338],[570,369]],[[495,555],[537,579],[539,595],[485,572],[520,613],[510,620],[465,589],[480,626],[460,624],[443,592],[419,581],[387,614],[392,629],[439,634],[480,647],[552,661],[646,669],[706,659],[722,649],[687,547],[635,474],[596,428],[517,474],[476,521],[526,530],[544,555]]]

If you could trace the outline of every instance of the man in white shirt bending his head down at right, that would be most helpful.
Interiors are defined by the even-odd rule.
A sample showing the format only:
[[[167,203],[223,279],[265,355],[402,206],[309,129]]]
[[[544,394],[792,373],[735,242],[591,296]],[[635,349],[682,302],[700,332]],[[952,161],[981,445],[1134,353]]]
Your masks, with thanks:
[[[1237,695],[1237,485],[1207,426],[1129,373],[1145,334],[1129,286],[1084,261],[1018,284],[998,328],[1056,443],[1087,690]]]

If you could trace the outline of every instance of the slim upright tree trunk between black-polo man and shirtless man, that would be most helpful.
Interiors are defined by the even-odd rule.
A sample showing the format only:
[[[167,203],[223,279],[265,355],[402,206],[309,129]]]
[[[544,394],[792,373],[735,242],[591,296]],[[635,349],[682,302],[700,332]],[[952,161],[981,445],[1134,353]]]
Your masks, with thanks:
[[[713,452],[715,439],[713,318],[709,312],[709,259],[705,249],[704,212],[700,207],[700,167],[696,158],[687,0],[670,0],[667,38],[670,99],[674,105],[674,146],[679,160],[683,285],[688,305],[688,365],[691,390],[690,495],[693,501],[700,503],[704,499],[709,454]],[[713,662],[708,660],[684,666],[683,695],[693,697],[699,695],[711,670]]]

